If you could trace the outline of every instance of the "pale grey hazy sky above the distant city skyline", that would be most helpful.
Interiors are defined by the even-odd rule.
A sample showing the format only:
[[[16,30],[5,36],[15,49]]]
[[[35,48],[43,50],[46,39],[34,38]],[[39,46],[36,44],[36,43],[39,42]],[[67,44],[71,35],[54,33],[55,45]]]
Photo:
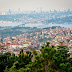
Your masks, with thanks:
[[[18,8],[24,10],[37,8],[42,8],[43,10],[72,9],[72,0],[0,0],[0,11]]]

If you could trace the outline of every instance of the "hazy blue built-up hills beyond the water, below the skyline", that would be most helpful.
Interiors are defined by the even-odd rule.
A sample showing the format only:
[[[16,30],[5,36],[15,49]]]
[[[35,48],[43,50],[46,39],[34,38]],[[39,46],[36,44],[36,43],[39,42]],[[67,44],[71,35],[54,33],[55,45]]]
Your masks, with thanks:
[[[0,15],[0,21],[21,23],[72,23],[72,11],[65,12],[34,12],[29,14]]]

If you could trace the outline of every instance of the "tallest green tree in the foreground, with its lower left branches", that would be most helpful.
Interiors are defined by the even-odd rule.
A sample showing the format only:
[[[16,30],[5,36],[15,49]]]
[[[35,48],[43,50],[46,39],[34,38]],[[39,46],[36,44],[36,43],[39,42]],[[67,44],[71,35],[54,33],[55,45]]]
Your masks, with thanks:
[[[28,64],[26,68],[29,69],[29,72],[54,72],[52,69],[53,56],[55,55],[56,50],[49,46],[49,42],[41,48],[41,54],[38,54],[36,51],[33,51],[35,61],[31,64]]]

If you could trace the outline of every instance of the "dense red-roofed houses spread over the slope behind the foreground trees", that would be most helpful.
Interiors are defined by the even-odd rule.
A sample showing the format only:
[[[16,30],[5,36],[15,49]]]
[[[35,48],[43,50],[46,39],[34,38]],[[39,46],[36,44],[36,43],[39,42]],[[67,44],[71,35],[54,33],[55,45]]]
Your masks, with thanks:
[[[72,57],[72,28],[64,27],[44,28],[41,31],[1,39],[0,53],[9,52],[18,55],[21,49],[23,49],[24,53],[34,49],[40,51],[41,46],[45,45],[47,41],[55,48],[61,44],[67,46]]]

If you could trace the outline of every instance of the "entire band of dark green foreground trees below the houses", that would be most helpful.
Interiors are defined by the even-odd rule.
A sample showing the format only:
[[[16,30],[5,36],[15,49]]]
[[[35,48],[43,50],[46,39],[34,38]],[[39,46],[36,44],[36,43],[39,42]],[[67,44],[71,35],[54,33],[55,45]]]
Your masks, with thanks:
[[[72,58],[66,46],[50,46],[47,42],[40,51],[20,51],[18,56],[0,55],[1,72],[72,72]]]

